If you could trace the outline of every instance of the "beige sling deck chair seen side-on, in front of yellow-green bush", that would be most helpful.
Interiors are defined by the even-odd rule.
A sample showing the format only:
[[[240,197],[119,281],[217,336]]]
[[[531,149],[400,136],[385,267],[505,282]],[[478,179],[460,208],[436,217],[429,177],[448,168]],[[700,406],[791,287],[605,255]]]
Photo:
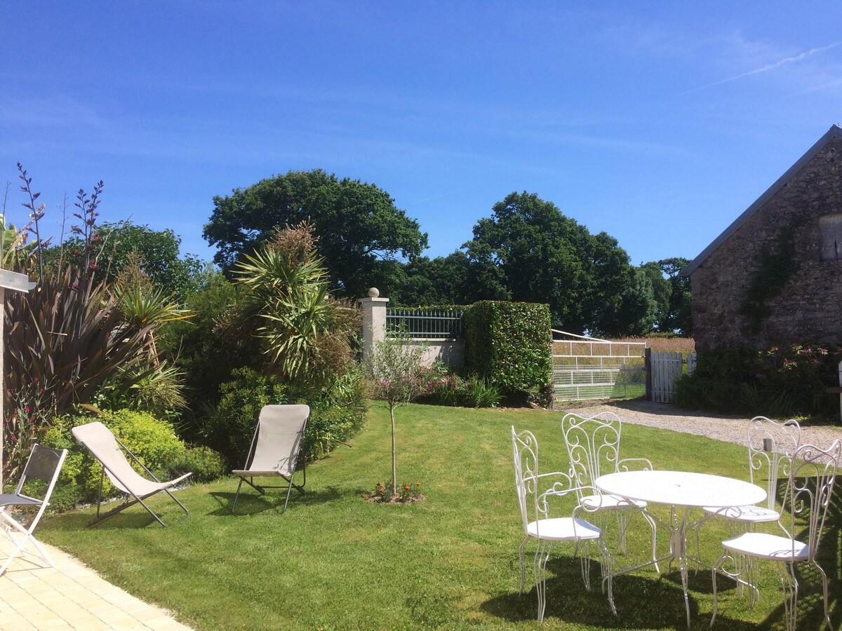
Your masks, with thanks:
[[[88,526],[93,526],[95,523],[99,523],[108,519],[109,517],[113,517],[118,512],[128,508],[129,506],[134,506],[138,502],[147,509],[152,517],[157,519],[157,522],[160,523],[163,527],[166,528],[167,524],[165,524],[161,517],[158,517],[152,509],[147,506],[144,500],[147,497],[153,496],[156,493],[160,493],[162,490],[168,496],[173,498],[176,504],[181,506],[182,510],[184,511],[184,517],[179,519],[179,522],[183,522],[188,516],[189,511],[187,508],[182,504],[180,501],[176,499],[175,496],[170,492],[170,489],[173,486],[178,485],[179,482],[182,482],[189,478],[192,473],[187,473],[182,475],[180,478],[176,478],[175,480],[170,480],[168,482],[161,482],[158,480],[155,475],[152,475],[152,471],[147,469],[146,465],[141,463],[138,460],[134,453],[131,453],[126,446],[120,442],[120,439],[115,437],[111,430],[108,427],[105,427],[100,422],[93,422],[88,423],[86,425],[80,425],[78,427],[73,427],[70,431],[74,438],[82,443],[85,447],[88,448],[90,453],[93,453],[94,458],[98,459],[100,464],[103,465],[103,474],[99,478],[99,501],[97,502],[97,517],[93,519],[92,522],[88,523]],[[125,452],[125,453],[124,453]],[[152,478],[152,480],[147,480],[142,475],[137,473],[137,471],[132,468],[129,461],[125,458],[125,454],[131,456],[131,459],[134,460],[137,464],[140,464],[144,471]],[[118,489],[123,491],[126,495],[125,502],[117,506],[116,508],[112,508],[109,512],[104,513],[103,515],[99,514],[99,508],[102,506],[102,494],[103,494],[103,480],[104,475],[108,474],[109,480],[111,480],[111,484],[115,485]],[[129,496],[133,497],[134,500],[130,500]]]

